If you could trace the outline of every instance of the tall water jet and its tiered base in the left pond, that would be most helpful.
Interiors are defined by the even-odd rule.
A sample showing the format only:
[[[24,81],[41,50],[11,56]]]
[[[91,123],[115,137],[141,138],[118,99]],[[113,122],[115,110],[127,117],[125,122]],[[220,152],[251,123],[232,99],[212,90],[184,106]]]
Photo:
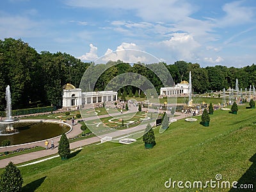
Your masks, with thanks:
[[[13,124],[17,121],[19,121],[18,119],[13,119],[12,118],[12,99],[11,99],[11,92],[10,92],[10,86],[8,85],[6,87],[6,95],[5,95],[5,100],[6,100],[6,110],[5,110],[5,113],[6,113],[6,119],[5,120],[2,120],[0,123],[1,124],[6,124],[6,132],[10,132],[10,133],[13,133],[13,132],[16,132],[14,129],[13,129]]]

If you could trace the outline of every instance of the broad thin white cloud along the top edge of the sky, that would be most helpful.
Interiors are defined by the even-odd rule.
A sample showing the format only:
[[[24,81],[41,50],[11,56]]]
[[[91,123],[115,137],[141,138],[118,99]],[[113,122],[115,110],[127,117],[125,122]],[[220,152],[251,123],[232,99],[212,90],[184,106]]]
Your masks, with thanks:
[[[104,8],[105,10],[129,10],[147,21],[177,21],[195,12],[196,7],[185,0],[130,0],[117,3],[116,0],[67,0],[68,6],[79,8]]]

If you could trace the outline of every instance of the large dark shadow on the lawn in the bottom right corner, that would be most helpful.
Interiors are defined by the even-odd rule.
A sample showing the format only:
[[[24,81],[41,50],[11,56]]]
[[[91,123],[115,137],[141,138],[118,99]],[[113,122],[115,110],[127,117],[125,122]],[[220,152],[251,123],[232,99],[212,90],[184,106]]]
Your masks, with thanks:
[[[250,166],[250,168],[248,168],[248,170],[243,174],[243,176],[239,180],[237,180],[238,182],[238,184],[236,185],[237,188],[230,189],[230,192],[255,190],[256,188],[256,154],[254,154],[249,160],[252,161],[253,163],[252,166]],[[244,189],[244,188],[242,189],[241,187],[243,186],[241,186],[241,184],[243,184],[244,188],[245,186],[247,186],[247,189]]]

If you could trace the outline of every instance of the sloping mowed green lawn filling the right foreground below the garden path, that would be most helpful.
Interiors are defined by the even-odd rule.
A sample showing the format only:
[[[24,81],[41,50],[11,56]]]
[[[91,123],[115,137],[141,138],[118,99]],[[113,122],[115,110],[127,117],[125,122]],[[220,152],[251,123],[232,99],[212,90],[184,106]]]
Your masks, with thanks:
[[[141,139],[130,145],[104,143],[86,146],[67,161],[20,167],[23,191],[229,191],[164,187],[169,178],[205,182],[216,174],[256,188],[256,109],[239,106],[237,113],[214,111],[210,127],[196,117],[197,122],[171,124],[163,134],[156,128],[157,145],[150,150]]]

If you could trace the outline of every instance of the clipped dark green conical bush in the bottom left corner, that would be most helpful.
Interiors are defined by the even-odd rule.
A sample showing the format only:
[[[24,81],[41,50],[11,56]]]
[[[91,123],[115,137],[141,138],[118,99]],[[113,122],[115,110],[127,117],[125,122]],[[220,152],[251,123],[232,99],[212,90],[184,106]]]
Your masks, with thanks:
[[[21,172],[11,161],[1,175],[0,191],[21,191],[22,183]]]

